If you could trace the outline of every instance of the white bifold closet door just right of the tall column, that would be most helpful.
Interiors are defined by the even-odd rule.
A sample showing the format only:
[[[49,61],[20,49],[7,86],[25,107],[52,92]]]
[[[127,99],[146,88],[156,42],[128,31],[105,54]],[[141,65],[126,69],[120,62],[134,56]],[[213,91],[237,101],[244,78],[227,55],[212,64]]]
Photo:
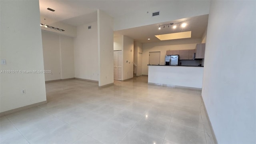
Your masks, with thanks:
[[[122,51],[114,51],[114,80],[122,80]]]

